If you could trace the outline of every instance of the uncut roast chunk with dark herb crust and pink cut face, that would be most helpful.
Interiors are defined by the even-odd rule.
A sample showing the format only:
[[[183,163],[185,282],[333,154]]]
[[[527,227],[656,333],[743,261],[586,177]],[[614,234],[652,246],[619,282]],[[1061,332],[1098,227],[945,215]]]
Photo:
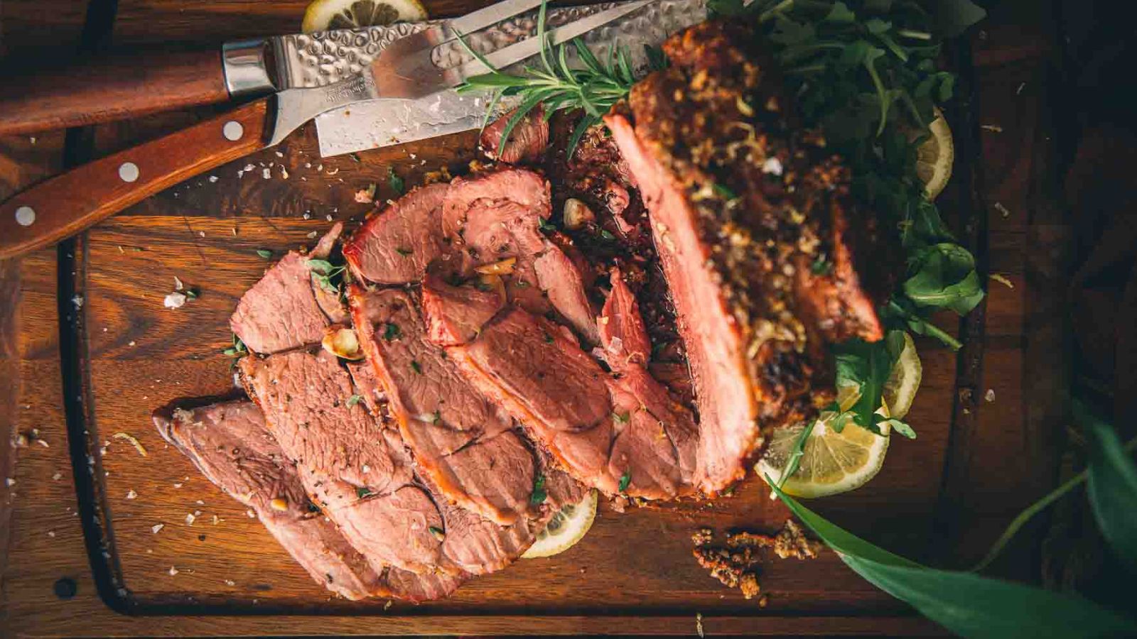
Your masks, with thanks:
[[[605,118],[650,213],[700,421],[698,483],[745,474],[761,431],[829,396],[827,340],[879,340],[879,291],[852,246],[872,216],[742,27],[704,23],[667,40],[671,66]],[[846,222],[846,218],[849,221]],[[811,389],[814,392],[811,393]]]

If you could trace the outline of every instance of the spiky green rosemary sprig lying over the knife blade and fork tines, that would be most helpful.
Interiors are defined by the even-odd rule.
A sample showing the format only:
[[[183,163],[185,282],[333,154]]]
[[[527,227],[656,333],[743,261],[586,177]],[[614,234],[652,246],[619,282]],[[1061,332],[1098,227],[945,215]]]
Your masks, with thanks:
[[[490,113],[487,113],[487,119],[503,98],[520,98],[520,105],[501,132],[501,140],[498,142],[499,155],[505,150],[513,130],[538,105],[545,106],[546,119],[558,110],[584,111],[568,141],[568,155],[572,155],[584,132],[598,124],[604,114],[628,96],[632,84],[636,83],[626,47],[609,45],[606,59],[600,61],[579,38],[568,43],[553,45],[545,28],[546,9],[546,2],[541,2],[537,17],[537,35],[534,35],[541,40],[540,64],[526,65],[521,74],[503,73],[493,68],[484,56],[465,42],[464,38],[458,38],[471,55],[491,69],[490,73],[466,78],[466,82],[458,86],[459,93],[490,90]],[[568,64],[570,45],[580,59],[579,67]],[[663,56],[657,50],[648,48],[648,60],[653,67],[658,67],[663,64]]]

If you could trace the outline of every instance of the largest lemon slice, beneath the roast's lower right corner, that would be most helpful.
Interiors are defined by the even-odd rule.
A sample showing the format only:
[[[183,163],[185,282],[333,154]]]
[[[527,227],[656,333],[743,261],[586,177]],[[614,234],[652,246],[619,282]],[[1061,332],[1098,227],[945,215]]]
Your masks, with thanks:
[[[864,486],[880,471],[888,450],[888,424],[880,425],[883,435],[852,423],[837,432],[832,429],[836,416],[832,412],[823,414],[813,425],[797,471],[781,487],[787,493],[794,497],[837,495]],[[805,424],[799,423],[774,430],[765,455],[755,467],[760,475],[770,475],[773,481],[781,478],[804,428]]]

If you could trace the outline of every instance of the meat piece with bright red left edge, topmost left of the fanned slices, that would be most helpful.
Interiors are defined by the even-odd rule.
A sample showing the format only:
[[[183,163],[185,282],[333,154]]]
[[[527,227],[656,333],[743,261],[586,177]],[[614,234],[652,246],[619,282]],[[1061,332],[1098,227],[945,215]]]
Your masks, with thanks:
[[[380,284],[418,282],[426,265],[447,250],[442,200],[448,185],[413,189],[372,215],[343,244],[343,257],[359,279]]]

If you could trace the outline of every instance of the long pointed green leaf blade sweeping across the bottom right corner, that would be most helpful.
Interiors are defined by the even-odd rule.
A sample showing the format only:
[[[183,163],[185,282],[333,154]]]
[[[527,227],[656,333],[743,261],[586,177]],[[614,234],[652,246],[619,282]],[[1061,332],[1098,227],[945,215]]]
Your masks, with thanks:
[[[921,566],[841,529],[766,482],[843,562],[870,583],[964,637],[1118,637],[1137,622],[1085,599],[971,573]]]

